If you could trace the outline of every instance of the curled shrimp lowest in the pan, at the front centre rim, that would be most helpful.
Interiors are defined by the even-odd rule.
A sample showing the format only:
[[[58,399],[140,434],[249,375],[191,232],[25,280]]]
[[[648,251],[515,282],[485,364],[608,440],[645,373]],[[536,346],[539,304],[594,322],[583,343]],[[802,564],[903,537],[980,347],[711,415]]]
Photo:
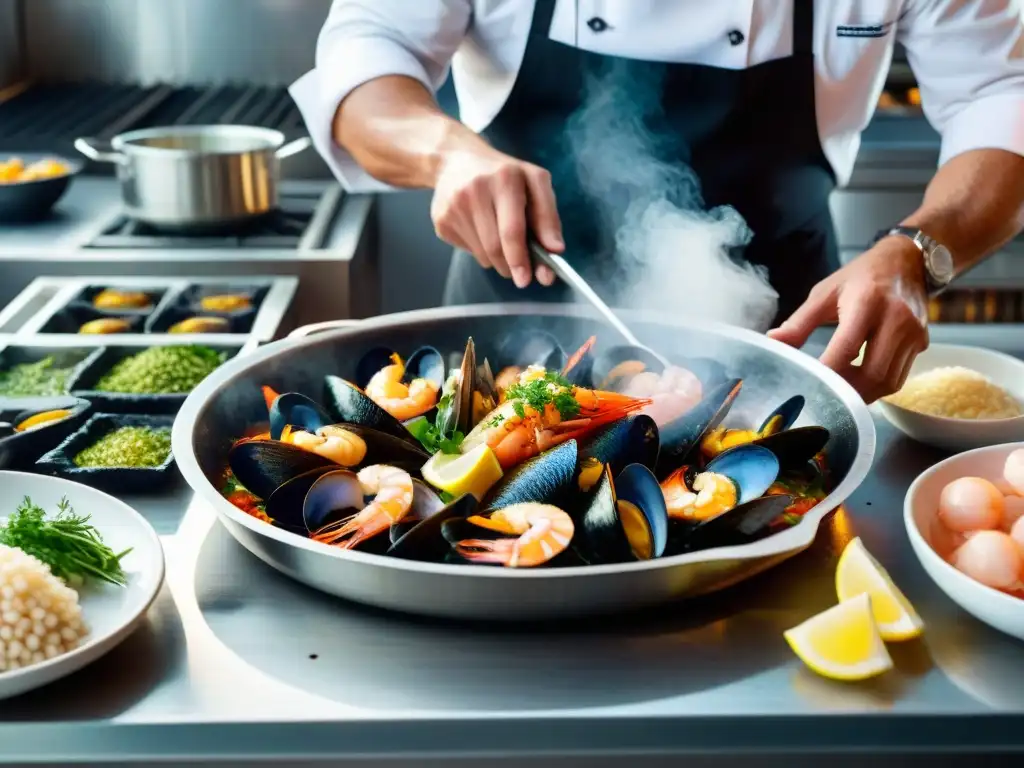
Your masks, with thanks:
[[[470,562],[507,568],[543,565],[564,552],[575,532],[572,518],[549,504],[513,504],[488,517],[473,515],[466,521],[515,538],[465,539],[456,545],[456,552]]]

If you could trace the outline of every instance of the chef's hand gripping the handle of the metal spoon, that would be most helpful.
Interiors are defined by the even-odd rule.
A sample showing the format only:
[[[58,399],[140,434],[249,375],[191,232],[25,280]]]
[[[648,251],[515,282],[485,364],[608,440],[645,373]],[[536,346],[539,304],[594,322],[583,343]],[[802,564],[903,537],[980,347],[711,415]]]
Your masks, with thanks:
[[[484,269],[512,278],[519,288],[532,276],[527,227],[549,251],[564,250],[551,174],[487,145],[445,158],[430,215],[437,237],[469,251]],[[537,279],[550,286],[555,274],[538,265]]]

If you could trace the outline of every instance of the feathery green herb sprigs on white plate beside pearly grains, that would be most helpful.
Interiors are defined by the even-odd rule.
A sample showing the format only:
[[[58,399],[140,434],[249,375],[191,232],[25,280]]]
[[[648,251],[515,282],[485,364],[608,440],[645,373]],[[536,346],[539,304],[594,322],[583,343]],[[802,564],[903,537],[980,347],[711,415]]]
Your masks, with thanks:
[[[57,505],[57,516],[47,520],[41,507],[25,497],[14,514],[0,526],[0,544],[16,547],[50,566],[53,574],[69,584],[94,577],[123,587],[127,578],[121,559],[131,552],[115,553],[103,544],[99,531],[79,515],[67,499]]]

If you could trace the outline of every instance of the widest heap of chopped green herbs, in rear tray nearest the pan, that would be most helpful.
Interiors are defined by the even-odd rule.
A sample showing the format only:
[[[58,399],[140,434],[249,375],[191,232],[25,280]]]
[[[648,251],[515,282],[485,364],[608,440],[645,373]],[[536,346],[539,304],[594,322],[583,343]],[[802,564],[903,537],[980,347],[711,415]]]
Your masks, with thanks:
[[[98,382],[99,392],[186,394],[220,367],[227,355],[210,347],[150,347],[125,357]]]

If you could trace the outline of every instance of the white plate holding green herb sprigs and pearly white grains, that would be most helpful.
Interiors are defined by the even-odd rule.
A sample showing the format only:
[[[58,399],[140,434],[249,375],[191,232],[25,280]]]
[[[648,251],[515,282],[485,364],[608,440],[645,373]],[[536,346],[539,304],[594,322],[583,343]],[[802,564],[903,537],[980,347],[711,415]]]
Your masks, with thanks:
[[[70,653],[33,667],[0,673],[0,698],[16,696],[66,677],[99,658],[127,638],[145,616],[164,582],[164,551],[145,519],[127,504],[95,488],[70,480],[25,472],[0,472],[0,516],[9,516],[30,497],[47,514],[67,497],[79,514],[92,516],[103,541],[121,552],[128,577],[126,587],[90,582],[79,590],[79,602],[89,627],[85,642]]]

